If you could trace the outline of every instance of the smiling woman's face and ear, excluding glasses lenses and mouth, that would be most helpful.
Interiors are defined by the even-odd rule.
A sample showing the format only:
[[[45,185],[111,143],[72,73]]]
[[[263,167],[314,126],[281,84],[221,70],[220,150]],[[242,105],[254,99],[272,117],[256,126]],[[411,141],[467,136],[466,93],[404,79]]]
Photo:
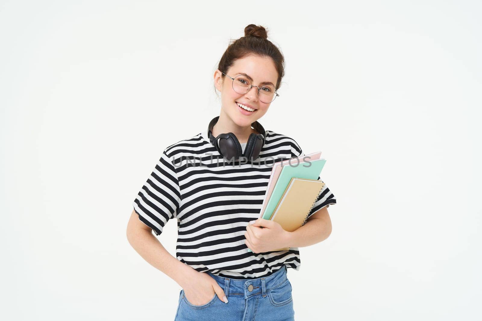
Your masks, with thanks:
[[[261,83],[263,82],[271,82],[273,86],[276,86],[278,80],[278,72],[270,57],[246,56],[236,60],[226,72],[228,76],[233,78],[240,73],[251,77],[253,79],[251,84],[259,87],[262,87]],[[221,92],[221,108],[236,125],[241,127],[251,126],[254,121],[266,114],[271,103],[263,103],[259,100],[257,87],[251,88],[245,94],[239,94],[233,90],[231,78],[224,76],[223,80],[220,76],[224,75],[216,70],[214,83],[217,90]],[[255,111],[248,112],[241,108],[238,103],[254,108]]]

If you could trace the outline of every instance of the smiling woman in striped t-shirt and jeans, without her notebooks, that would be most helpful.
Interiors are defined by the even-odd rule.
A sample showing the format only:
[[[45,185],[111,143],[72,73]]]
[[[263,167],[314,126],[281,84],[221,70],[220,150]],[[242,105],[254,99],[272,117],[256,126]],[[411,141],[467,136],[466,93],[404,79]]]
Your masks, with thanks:
[[[259,218],[273,163],[304,154],[257,121],[279,96],[284,58],[264,27],[244,32],[214,72],[220,115],[164,149],[133,202],[130,244],[182,287],[175,320],[294,320],[286,269],[299,270],[299,246],[331,232],[327,207],[336,200],[326,185],[294,232]],[[160,235],[170,218],[177,219],[177,258],[151,233]],[[283,247],[290,250],[275,251]]]

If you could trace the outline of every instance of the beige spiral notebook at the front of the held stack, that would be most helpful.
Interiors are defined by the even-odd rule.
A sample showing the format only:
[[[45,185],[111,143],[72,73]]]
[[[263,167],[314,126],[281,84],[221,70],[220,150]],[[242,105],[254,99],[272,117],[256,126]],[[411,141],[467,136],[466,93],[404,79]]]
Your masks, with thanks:
[[[279,223],[285,231],[295,231],[306,223],[324,185],[321,180],[292,178],[270,219]],[[275,251],[289,249],[286,247]]]

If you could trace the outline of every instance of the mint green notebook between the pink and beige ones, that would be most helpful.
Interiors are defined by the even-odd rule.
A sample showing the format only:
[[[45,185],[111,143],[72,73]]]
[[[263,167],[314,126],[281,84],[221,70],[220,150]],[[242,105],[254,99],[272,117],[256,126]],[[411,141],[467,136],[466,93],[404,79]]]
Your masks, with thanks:
[[[264,219],[271,218],[271,214],[273,214],[274,210],[276,209],[276,205],[278,205],[278,202],[280,202],[281,196],[283,196],[283,193],[288,187],[288,184],[292,178],[296,177],[309,180],[318,179],[321,174],[321,169],[323,169],[323,166],[326,163],[326,159],[317,159],[310,162],[311,165],[309,167],[305,167],[308,165],[307,163],[300,163],[298,166],[293,167],[289,164],[283,166],[280,177],[276,181],[273,193],[271,193],[271,197],[269,198],[268,205],[266,205],[265,212],[263,214]]]

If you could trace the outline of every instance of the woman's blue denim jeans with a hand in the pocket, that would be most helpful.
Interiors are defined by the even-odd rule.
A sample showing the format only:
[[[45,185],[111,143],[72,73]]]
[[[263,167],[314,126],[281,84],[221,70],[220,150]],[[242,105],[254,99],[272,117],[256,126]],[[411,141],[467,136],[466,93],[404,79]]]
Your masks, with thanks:
[[[294,321],[291,283],[286,276],[286,266],[273,274],[257,279],[231,279],[211,277],[224,289],[228,303],[216,294],[206,304],[196,306],[187,301],[184,290],[179,293],[179,304],[174,321]]]

